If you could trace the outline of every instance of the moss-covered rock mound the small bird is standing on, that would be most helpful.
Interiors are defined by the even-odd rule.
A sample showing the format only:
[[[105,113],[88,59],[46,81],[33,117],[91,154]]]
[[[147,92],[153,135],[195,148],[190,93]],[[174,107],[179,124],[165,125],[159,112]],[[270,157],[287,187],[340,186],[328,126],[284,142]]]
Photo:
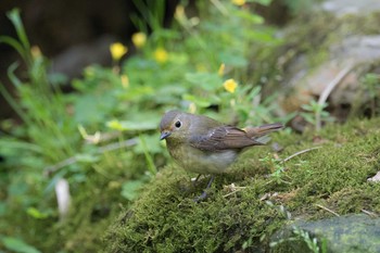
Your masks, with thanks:
[[[318,136],[273,135],[281,153],[250,149],[200,203],[193,198],[207,178],[193,186],[189,175],[167,166],[110,227],[105,252],[268,252],[271,236],[289,222],[287,212],[304,220],[332,215],[320,206],[340,215],[380,213],[380,185],[367,181],[380,168],[379,124],[364,119],[328,126]]]

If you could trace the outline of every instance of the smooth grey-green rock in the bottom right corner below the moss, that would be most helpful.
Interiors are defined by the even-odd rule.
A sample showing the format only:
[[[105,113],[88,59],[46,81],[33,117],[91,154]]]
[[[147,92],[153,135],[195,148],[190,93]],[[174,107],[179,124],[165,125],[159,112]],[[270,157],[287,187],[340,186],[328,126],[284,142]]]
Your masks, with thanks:
[[[296,233],[303,236],[296,236]],[[309,238],[305,236],[307,232]],[[273,237],[273,252],[313,252],[313,240],[319,252],[330,253],[380,252],[380,218],[353,214],[316,222],[295,222]],[[296,240],[294,240],[296,239]],[[277,243],[276,243],[277,242]],[[324,245],[325,244],[325,245]]]

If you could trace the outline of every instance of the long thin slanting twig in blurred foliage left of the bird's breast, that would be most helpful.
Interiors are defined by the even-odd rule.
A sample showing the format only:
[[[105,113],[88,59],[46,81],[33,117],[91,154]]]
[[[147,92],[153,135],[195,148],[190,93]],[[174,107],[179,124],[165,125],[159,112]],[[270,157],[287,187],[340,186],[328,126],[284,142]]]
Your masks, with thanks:
[[[131,146],[135,146],[137,144],[137,138],[131,138],[131,139],[128,139],[128,140],[125,140],[123,142],[115,142],[115,143],[111,143],[111,144],[107,144],[107,146],[104,146],[104,147],[100,147],[97,151],[96,151],[96,154],[102,154],[102,153],[106,153],[106,152],[110,152],[110,151],[113,151],[113,150],[117,150],[117,149],[123,149],[123,148],[126,148],[126,147],[131,147]],[[68,165],[72,165],[72,164],[75,164],[78,162],[78,159],[77,156],[72,156],[72,157],[68,157],[66,160],[63,160],[54,165],[51,165],[51,166],[48,166],[43,169],[43,175],[46,176],[49,176],[50,174],[52,173],[55,173],[56,170],[63,168],[63,167],[66,167]]]

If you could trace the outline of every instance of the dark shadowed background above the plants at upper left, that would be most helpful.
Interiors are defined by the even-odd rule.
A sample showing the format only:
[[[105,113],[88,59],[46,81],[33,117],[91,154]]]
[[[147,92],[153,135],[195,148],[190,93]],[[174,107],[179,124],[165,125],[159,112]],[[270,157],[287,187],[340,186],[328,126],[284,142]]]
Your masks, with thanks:
[[[166,0],[165,26],[173,20],[178,2]],[[5,15],[13,8],[21,10],[30,45],[38,46],[51,60],[52,71],[65,74],[68,79],[80,76],[83,68],[91,63],[110,65],[109,46],[114,41],[128,45],[136,31],[130,17],[140,15],[134,1],[3,0],[0,3],[1,35],[15,37],[14,27]],[[11,89],[7,69],[18,55],[3,43],[0,43],[0,80]],[[0,109],[0,119],[15,116],[2,97]]]

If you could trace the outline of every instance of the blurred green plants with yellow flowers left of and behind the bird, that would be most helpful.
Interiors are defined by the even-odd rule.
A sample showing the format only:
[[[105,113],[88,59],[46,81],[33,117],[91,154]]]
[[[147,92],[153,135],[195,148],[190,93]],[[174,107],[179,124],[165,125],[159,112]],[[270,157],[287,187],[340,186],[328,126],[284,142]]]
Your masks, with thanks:
[[[162,2],[135,4],[142,16],[132,17],[135,24],[145,34],[152,30],[147,43],[123,65],[115,61],[112,68],[87,67],[81,79],[73,80],[75,92],[69,94],[60,91],[64,77],[47,74],[49,62],[37,47],[30,47],[18,11],[10,12],[17,38],[1,36],[0,42],[20,53],[27,78],[14,74],[17,63],[10,66],[18,100],[0,84],[1,94],[23,119],[23,125],[11,121],[1,125],[9,135],[0,140],[5,157],[0,186],[7,191],[0,215],[12,219],[12,226],[3,223],[0,233],[20,240],[11,240],[9,249],[21,245],[23,240],[17,238],[26,238],[43,251],[72,251],[79,244],[84,251],[93,251],[100,241],[91,237],[101,236],[118,203],[134,201],[163,166],[167,153],[157,141],[156,127],[167,109],[214,116],[217,109],[219,119],[232,121],[235,115],[241,124],[275,119],[276,105],[269,106],[274,98],[262,102],[259,87],[248,75],[252,48],[269,49],[281,42],[274,38],[273,28],[262,25],[261,16],[229,2],[202,8],[200,17],[187,17],[179,7],[177,28],[166,29]],[[150,4],[154,8],[147,9]],[[237,87],[227,90],[227,79]],[[69,182],[74,211],[69,222],[54,226],[59,218],[54,186],[61,177]],[[109,192],[107,201],[113,200],[107,215],[102,215],[99,202],[104,197],[99,189]],[[43,229],[35,237],[38,226]],[[60,239],[48,237],[56,230]],[[93,230],[93,236],[74,239],[76,230]]]

